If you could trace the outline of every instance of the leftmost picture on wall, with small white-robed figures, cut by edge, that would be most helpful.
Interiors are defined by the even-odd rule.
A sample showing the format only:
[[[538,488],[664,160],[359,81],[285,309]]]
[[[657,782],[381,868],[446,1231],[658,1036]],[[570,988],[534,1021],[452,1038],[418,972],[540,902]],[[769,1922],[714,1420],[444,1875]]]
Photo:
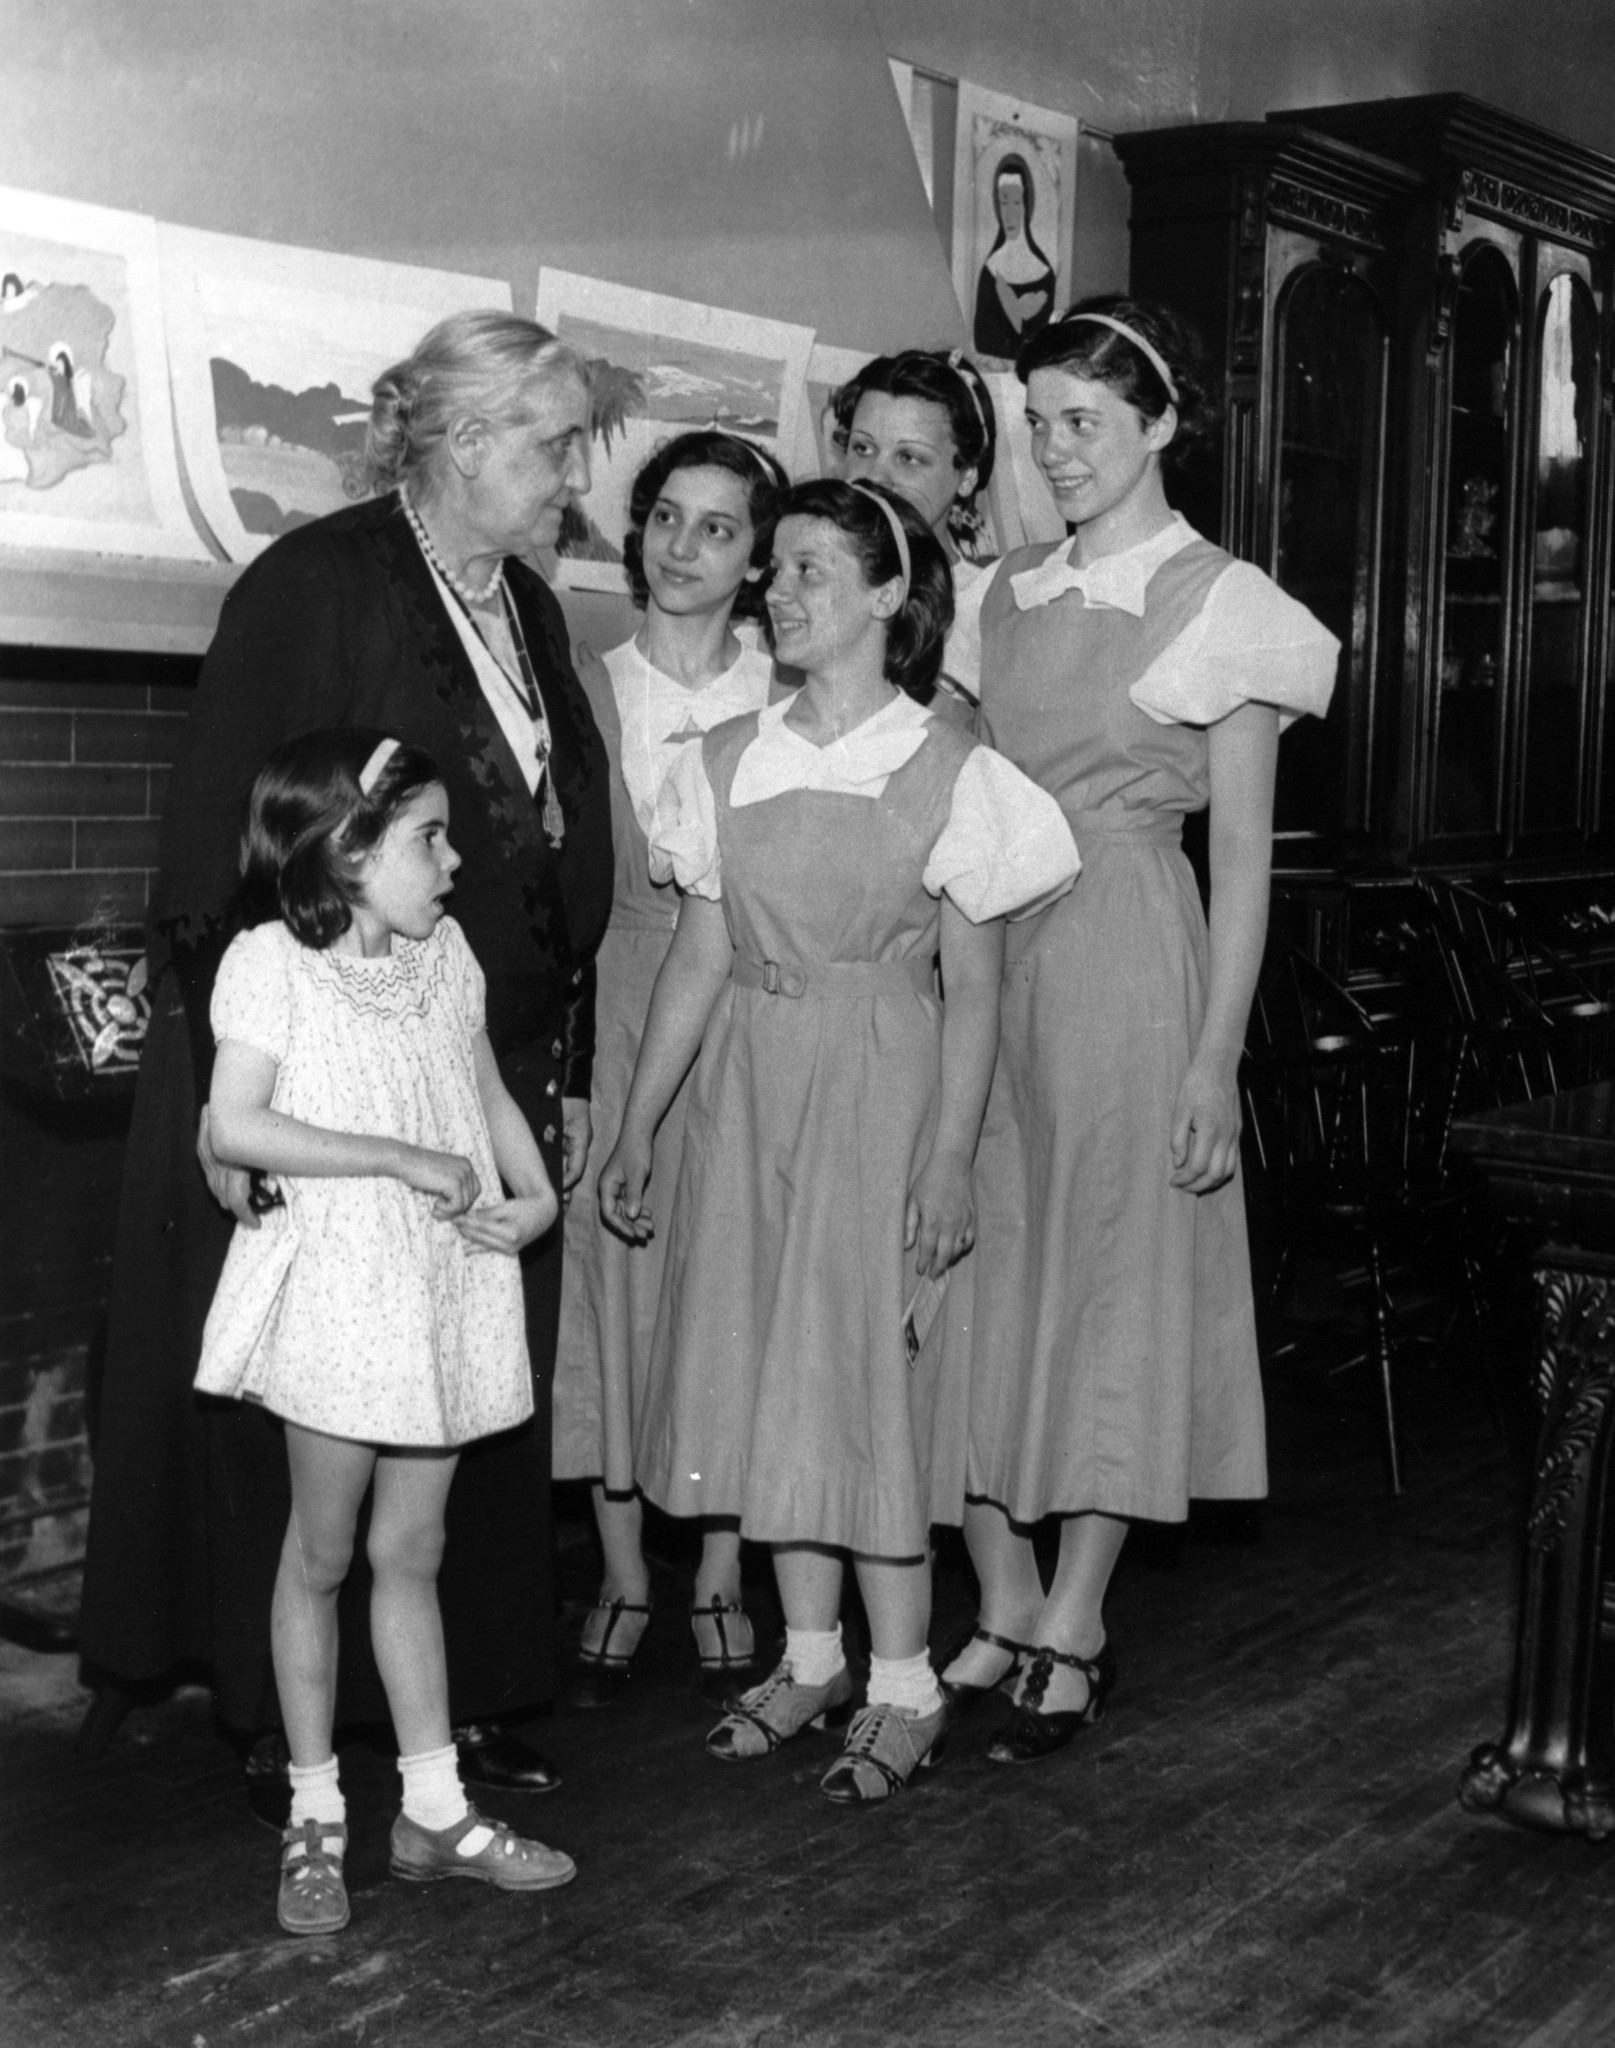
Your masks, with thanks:
[[[143,215],[0,188],[0,543],[209,559]]]

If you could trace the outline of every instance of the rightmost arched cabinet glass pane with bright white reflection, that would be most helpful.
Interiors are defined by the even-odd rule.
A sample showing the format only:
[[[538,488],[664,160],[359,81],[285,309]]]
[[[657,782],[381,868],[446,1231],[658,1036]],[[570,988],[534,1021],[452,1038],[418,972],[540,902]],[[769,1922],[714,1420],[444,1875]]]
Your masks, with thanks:
[[[1582,813],[1599,313],[1584,279],[1570,272],[1552,279],[1537,305],[1535,526],[1519,821],[1521,831],[1572,831]]]

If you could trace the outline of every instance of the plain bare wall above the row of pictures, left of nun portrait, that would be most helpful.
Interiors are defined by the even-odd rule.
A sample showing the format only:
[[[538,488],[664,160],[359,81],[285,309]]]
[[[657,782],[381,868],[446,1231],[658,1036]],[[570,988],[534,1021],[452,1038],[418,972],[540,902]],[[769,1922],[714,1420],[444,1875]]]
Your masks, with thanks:
[[[864,0],[2,0],[0,182],[958,338]]]

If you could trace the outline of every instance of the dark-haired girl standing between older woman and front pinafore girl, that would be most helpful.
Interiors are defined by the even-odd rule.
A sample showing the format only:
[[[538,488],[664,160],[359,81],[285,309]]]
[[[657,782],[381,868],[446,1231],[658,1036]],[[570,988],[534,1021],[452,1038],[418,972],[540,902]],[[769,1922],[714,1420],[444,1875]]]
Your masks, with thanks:
[[[612,922],[596,956],[596,1053],[590,1114],[604,1137],[622,1122],[651,989],[678,922],[678,895],[651,881],[647,836],[657,791],[684,745],[768,702],[774,659],[739,639],[733,618],[761,612],[761,573],[780,465],[735,434],[678,434],[645,463],[628,496],[622,559],[645,625],[604,662],[577,651],[577,674],[612,758]],[[753,627],[755,633],[755,627]],[[653,1180],[671,1190],[684,1145],[680,1090],[655,1139]],[[555,1356],[555,1477],[592,1479],[606,1577],[583,1624],[571,1700],[602,1706],[632,1669],[651,1618],[632,1470],[632,1417],[651,1366],[665,1239],[626,1243],[592,1200],[567,1206],[561,1341]],[[710,1681],[755,1663],[741,1608],[741,1534],[708,1522],[690,1610]]]

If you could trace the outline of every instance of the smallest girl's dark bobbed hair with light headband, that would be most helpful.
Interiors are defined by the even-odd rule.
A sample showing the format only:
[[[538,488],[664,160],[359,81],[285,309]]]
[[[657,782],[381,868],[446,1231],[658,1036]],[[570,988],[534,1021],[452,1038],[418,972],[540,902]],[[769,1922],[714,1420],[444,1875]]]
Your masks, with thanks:
[[[440,780],[430,754],[370,725],[301,733],[276,748],[248,799],[242,924],[280,918],[323,952],[354,922],[364,854],[411,797]]]

